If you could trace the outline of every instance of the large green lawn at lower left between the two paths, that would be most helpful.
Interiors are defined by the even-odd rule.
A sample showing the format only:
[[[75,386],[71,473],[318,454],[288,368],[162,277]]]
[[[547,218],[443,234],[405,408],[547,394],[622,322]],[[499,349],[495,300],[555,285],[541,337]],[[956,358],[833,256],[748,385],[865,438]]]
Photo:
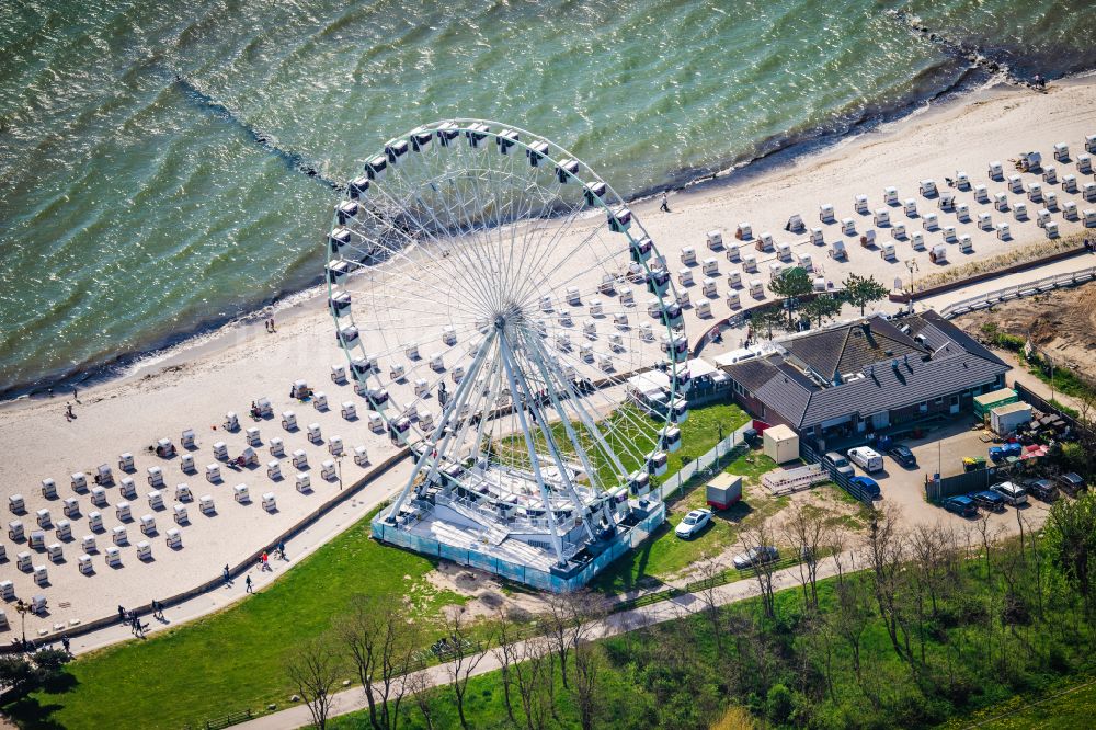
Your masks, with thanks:
[[[372,516],[372,515],[370,515]],[[146,641],[73,662],[73,686],[4,707],[31,727],[180,728],[293,693],[283,671],[295,646],[321,635],[358,593],[403,593],[425,617],[464,603],[424,575],[434,561],[369,539],[368,517],[302,560],[269,589]]]

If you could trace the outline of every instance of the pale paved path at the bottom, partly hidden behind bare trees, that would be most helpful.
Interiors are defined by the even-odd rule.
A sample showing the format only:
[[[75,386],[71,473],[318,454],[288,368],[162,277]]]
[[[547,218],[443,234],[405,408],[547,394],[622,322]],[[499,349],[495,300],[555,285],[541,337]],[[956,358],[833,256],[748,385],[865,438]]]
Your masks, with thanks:
[[[846,555],[843,562],[846,572],[850,570],[852,560],[852,555]],[[819,566],[818,579],[822,580],[824,578],[830,578],[836,573],[836,563],[833,560],[827,559]],[[798,586],[798,566],[786,568],[785,570],[777,571],[773,574],[773,590],[775,591]],[[738,603],[739,601],[745,601],[746,598],[758,595],[757,581],[754,579],[744,579],[735,583],[721,585],[715,590],[715,594],[716,602],[721,606]],[[606,637],[617,636],[627,631],[633,631],[646,626],[683,618],[685,616],[699,613],[704,608],[705,601],[700,596],[689,593],[670,601],[662,601],[649,606],[612,614],[605,619],[594,624],[591,627],[589,637],[591,639],[604,639]],[[523,642],[517,643],[518,648],[522,643]],[[518,654],[520,653],[521,650],[518,650]],[[484,652],[483,659],[480,661],[479,665],[477,665],[472,674],[487,674],[488,672],[493,672],[494,670],[500,669],[500,666],[501,665],[499,660],[495,658],[494,652],[489,650]],[[438,664],[436,666],[430,666],[422,670],[421,674],[426,676],[427,686],[444,685],[449,681],[448,673],[450,668],[452,664]],[[355,712],[367,707],[368,704],[362,688],[351,687],[350,689],[344,689],[334,695],[331,704],[331,715],[329,717]],[[295,707],[290,707],[289,709],[271,712],[270,715],[264,715],[254,720],[233,727],[248,728],[251,730],[282,730],[284,728],[300,728],[310,725],[312,717],[308,711],[308,707],[301,703]]]

